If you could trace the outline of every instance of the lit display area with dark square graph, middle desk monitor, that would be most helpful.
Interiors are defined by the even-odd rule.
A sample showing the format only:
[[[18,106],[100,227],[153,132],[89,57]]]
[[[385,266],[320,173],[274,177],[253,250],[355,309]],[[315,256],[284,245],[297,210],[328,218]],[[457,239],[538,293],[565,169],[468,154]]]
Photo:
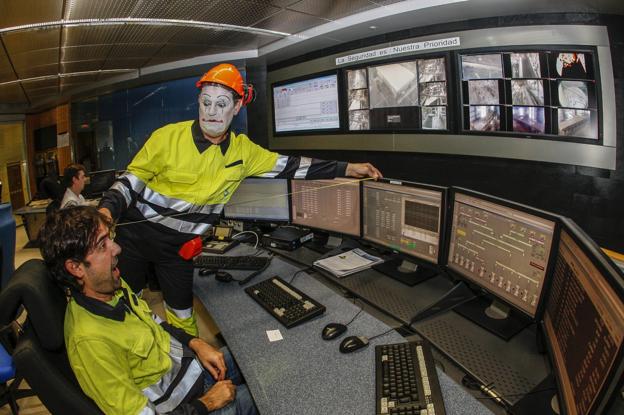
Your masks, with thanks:
[[[375,182],[363,192],[364,239],[438,263],[442,192]]]

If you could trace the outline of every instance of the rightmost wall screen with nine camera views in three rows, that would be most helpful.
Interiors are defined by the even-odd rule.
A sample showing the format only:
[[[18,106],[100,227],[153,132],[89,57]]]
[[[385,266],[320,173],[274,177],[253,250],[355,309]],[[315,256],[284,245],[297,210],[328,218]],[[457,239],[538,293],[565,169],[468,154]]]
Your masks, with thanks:
[[[592,53],[464,54],[460,62],[465,130],[598,139]]]

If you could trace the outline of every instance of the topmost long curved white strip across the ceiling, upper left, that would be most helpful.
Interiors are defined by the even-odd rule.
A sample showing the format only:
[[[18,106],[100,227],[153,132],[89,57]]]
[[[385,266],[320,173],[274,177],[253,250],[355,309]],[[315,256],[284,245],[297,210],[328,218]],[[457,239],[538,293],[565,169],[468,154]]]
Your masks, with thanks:
[[[290,33],[276,30],[261,29],[259,27],[238,26],[225,23],[203,22],[200,20],[181,19],[149,19],[139,17],[120,17],[112,19],[62,19],[52,22],[30,23],[20,26],[5,27],[0,29],[0,34],[22,32],[26,30],[44,30],[54,27],[80,27],[80,26],[112,26],[112,25],[152,25],[152,26],[180,26],[194,27],[198,29],[229,30],[234,32],[254,33],[257,35],[287,37]]]

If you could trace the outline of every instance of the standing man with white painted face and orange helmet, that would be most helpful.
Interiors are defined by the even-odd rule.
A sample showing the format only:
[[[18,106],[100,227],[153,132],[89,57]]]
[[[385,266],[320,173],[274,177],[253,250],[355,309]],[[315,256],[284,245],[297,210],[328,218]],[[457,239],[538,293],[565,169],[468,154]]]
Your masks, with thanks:
[[[178,251],[218,221],[244,178],[382,177],[370,163],[284,156],[231,131],[232,118],[254,94],[233,65],[215,66],[196,85],[198,119],[156,130],[100,202],[100,210],[121,224],[139,222],[117,233],[124,250],[119,268],[130,287],[144,287],[152,263],[168,320],[192,335],[193,264]]]

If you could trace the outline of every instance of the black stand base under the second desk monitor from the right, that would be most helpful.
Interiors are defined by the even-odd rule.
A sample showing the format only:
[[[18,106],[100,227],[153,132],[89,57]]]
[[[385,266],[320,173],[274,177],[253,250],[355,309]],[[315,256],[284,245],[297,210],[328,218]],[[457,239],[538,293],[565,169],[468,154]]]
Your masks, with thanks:
[[[528,317],[521,315],[506,304],[490,300],[485,296],[461,304],[454,310],[505,341],[509,341],[531,324]]]

